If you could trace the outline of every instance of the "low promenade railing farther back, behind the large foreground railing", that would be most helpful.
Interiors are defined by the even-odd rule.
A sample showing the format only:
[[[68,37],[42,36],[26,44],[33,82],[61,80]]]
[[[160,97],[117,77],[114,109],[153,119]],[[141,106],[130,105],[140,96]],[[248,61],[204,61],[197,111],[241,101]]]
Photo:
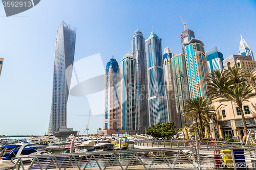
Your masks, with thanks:
[[[158,147],[158,148],[175,148],[175,147],[189,147],[196,145],[194,140],[136,140],[135,145],[143,147]],[[226,142],[226,141],[198,141],[200,147],[203,146],[234,146],[245,145],[245,142]],[[256,146],[255,143],[248,143],[248,145]]]

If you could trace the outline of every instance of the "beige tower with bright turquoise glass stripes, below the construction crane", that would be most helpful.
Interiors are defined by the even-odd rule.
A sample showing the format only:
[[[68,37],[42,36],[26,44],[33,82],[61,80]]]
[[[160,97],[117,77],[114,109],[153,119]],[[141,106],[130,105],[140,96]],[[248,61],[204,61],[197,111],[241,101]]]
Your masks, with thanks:
[[[186,67],[188,84],[191,99],[199,97],[207,97],[207,78],[209,71],[207,61],[204,54],[204,43],[199,39],[191,39],[188,43],[184,43],[186,55]]]

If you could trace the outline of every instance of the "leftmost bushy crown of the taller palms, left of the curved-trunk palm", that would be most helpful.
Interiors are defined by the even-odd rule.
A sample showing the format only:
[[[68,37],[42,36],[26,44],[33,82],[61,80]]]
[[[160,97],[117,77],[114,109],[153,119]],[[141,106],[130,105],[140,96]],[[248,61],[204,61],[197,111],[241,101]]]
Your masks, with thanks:
[[[227,70],[225,69],[222,69],[221,71],[212,71],[205,81],[207,81],[207,96],[209,99],[213,99],[224,94],[225,89],[230,84],[227,77]]]

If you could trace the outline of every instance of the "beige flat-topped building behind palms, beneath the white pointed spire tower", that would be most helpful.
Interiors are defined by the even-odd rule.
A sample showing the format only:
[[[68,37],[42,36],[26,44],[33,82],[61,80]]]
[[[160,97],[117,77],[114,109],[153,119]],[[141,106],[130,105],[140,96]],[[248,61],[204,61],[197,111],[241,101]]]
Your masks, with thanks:
[[[252,61],[251,56],[242,56],[242,55],[231,55],[228,58],[223,60],[223,67],[228,69],[228,67],[237,67],[237,60],[250,60]]]

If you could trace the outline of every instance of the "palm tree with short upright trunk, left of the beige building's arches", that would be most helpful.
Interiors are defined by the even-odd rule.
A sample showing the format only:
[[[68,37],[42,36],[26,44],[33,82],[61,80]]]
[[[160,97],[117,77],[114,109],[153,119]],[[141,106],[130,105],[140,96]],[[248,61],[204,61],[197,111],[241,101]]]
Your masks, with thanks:
[[[194,99],[189,99],[186,102],[183,116],[185,120],[191,118],[199,119],[200,131],[202,137],[204,136],[203,131],[203,120],[209,120],[210,112],[214,111],[214,107],[209,106],[209,100],[204,99],[204,97],[197,97]]]

